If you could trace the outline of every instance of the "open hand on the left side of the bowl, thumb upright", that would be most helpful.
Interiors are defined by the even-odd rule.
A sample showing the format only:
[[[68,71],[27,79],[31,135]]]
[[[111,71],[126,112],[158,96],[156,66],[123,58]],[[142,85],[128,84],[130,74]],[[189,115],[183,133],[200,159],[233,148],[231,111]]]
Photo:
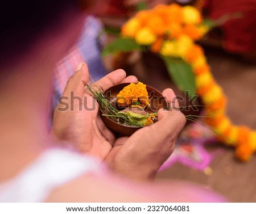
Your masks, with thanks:
[[[58,141],[71,142],[77,150],[103,160],[112,149],[115,136],[100,116],[96,100],[85,86],[89,80],[85,63],[78,66],[64,89],[53,115],[53,135]],[[102,91],[118,83],[138,82],[134,76],[126,77],[122,69],[101,78],[94,85]]]

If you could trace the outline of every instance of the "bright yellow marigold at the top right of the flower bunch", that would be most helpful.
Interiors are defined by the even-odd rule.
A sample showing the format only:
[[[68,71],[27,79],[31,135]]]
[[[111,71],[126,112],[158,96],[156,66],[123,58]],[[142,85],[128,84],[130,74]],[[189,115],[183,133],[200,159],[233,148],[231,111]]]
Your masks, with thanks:
[[[183,7],[183,22],[187,24],[199,24],[202,21],[199,10],[192,6]]]

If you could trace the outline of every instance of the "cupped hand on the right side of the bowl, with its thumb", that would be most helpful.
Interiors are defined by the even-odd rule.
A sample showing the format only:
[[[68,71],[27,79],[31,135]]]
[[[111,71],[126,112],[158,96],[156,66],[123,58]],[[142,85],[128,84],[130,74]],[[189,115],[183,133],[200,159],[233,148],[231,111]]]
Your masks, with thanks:
[[[168,103],[175,100],[171,89],[164,90],[162,94]],[[178,107],[176,100],[175,109]],[[185,116],[177,110],[159,110],[158,120],[130,137],[121,137],[115,141],[105,158],[115,173],[137,180],[155,177],[160,166],[174,151],[177,136],[186,122]]]

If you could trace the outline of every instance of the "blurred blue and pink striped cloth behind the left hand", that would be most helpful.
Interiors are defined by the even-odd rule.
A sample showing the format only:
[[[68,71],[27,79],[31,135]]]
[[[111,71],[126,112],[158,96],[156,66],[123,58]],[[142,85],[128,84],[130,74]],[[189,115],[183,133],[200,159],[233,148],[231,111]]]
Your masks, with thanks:
[[[89,73],[94,81],[106,75],[106,69],[101,59],[101,47],[104,36],[98,37],[103,30],[100,20],[88,16],[84,23],[78,43],[56,64],[55,79],[52,94],[52,114],[57,106],[59,97],[63,94],[69,77],[76,71],[80,62],[86,62]],[[52,120],[52,117],[51,117]]]

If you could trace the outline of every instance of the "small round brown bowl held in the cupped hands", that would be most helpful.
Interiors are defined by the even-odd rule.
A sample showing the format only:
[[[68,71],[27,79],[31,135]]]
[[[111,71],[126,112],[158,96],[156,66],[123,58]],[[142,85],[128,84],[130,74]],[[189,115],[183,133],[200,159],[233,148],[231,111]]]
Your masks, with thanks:
[[[105,90],[103,92],[104,95],[108,97],[108,99],[113,100],[113,103],[115,102],[115,98],[117,97],[117,94],[127,85],[130,83],[120,83],[118,85],[114,85],[110,87],[109,89]],[[147,92],[148,92],[148,99],[150,100],[150,107],[146,108],[147,112],[156,112],[160,108],[167,108],[167,102],[164,96],[156,89],[154,89],[151,86],[146,86]],[[118,109],[117,105],[115,105],[115,108]],[[102,121],[104,121],[105,125],[112,129],[115,132],[121,133],[123,135],[130,136],[134,132],[136,132],[138,129],[142,127],[133,127],[121,123],[117,123],[113,119],[109,118],[108,116],[102,116],[102,114],[107,114],[107,112],[100,106],[100,115]]]

